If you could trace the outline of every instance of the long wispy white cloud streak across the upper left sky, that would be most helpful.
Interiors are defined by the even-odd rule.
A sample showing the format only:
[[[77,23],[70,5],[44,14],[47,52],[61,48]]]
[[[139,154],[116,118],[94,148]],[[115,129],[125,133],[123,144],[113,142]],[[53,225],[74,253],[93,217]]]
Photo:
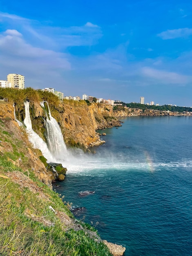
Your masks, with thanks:
[[[6,28],[20,31],[32,44],[47,49],[91,46],[102,37],[100,27],[91,22],[81,26],[53,27],[9,13],[0,13],[0,19]]]

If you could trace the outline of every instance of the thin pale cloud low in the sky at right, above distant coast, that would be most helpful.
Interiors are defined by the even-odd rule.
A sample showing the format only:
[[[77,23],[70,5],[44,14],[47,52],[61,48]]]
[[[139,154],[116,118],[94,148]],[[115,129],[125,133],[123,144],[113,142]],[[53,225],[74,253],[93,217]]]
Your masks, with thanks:
[[[175,72],[168,72],[164,70],[156,70],[151,67],[142,67],[141,72],[148,78],[161,81],[161,83],[172,84],[186,84],[189,82],[189,77]]]

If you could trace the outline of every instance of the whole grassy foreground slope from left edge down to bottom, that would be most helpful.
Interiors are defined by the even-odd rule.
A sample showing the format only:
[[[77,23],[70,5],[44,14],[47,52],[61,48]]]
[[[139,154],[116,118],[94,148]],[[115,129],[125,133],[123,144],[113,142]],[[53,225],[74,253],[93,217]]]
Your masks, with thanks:
[[[0,140],[0,255],[111,255],[94,228],[74,219],[62,198],[36,178],[25,142],[5,120]]]

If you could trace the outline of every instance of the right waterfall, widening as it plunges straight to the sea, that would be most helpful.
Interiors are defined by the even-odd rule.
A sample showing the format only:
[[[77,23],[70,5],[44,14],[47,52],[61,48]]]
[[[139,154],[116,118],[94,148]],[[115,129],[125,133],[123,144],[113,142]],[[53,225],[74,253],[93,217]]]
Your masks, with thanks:
[[[48,111],[45,108],[44,104],[47,104]],[[67,156],[69,156],[69,153],[67,152],[67,147],[65,145],[65,142],[63,140],[63,135],[60,130],[60,126],[58,125],[58,122],[54,117],[51,116],[51,111],[49,109],[49,104],[47,101],[42,101],[40,103],[42,108],[45,110],[46,114],[46,120],[45,120],[45,129],[46,129],[46,139],[47,139],[47,145],[51,152],[51,154],[56,157],[59,161],[66,160]]]

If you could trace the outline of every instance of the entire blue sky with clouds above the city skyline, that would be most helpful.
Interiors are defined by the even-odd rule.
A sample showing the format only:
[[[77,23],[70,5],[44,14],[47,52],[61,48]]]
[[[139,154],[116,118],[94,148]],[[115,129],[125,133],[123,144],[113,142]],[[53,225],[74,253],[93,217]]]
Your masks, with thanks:
[[[192,106],[190,0],[0,0],[0,80]]]

